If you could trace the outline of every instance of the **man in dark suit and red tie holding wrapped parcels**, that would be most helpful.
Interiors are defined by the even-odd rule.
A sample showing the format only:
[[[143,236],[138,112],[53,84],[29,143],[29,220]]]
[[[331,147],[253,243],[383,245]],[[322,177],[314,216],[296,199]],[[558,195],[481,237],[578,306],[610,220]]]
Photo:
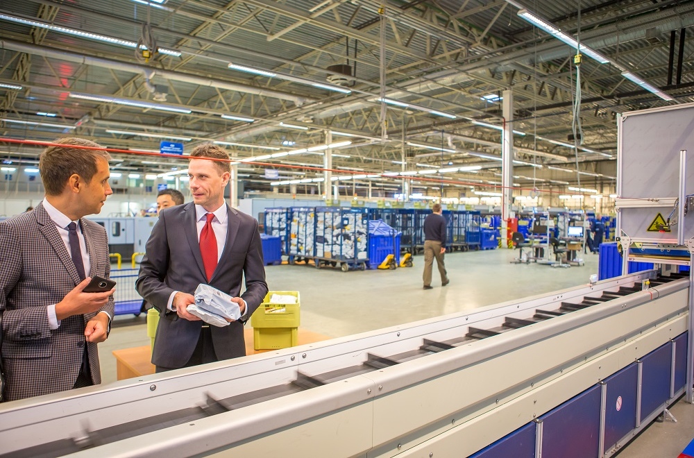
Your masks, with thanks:
[[[193,202],[162,210],[147,241],[136,287],[161,312],[152,353],[158,372],[246,355],[244,323],[268,289],[258,223],[224,201],[230,169],[219,146],[196,147],[188,167]],[[189,314],[201,283],[232,296],[241,319],[217,328]]]

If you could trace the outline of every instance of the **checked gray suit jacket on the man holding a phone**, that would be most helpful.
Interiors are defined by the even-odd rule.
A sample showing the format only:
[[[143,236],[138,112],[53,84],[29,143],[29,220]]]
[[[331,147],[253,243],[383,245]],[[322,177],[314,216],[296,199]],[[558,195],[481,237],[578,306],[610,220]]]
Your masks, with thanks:
[[[103,227],[80,220],[90,275],[108,278],[108,238]],[[0,223],[0,310],[2,359],[8,400],[72,389],[85,343],[92,381],[101,383],[96,343],[85,341],[85,325],[96,313],[70,316],[51,330],[47,307],[59,303],[80,282],[53,222],[40,203],[32,212]],[[101,310],[113,316],[113,298]]]

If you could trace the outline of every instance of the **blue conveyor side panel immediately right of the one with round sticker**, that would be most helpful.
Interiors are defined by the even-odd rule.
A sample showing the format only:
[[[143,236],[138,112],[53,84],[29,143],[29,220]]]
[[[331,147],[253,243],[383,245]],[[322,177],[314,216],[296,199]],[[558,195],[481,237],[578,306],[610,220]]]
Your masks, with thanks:
[[[643,362],[641,421],[643,421],[670,398],[672,343],[668,342],[657,350],[653,350],[641,358],[641,361]]]

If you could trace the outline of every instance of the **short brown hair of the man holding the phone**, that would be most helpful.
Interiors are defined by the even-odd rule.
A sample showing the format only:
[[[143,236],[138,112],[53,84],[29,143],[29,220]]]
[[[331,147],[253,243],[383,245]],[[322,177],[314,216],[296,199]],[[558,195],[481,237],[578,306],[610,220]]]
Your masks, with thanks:
[[[90,148],[103,148],[91,140],[67,137],[57,139],[53,143],[65,146],[49,146],[41,153],[39,171],[46,194],[58,196],[65,189],[67,180],[73,175],[83,178],[87,184],[96,174],[96,160],[98,158],[110,160],[111,155],[107,151],[99,149],[74,148],[72,146],[89,146]]]

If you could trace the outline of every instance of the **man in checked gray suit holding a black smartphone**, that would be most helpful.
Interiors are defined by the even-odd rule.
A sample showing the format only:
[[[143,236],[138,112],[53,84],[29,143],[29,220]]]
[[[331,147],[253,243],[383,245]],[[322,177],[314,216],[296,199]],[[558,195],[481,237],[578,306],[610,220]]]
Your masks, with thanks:
[[[85,139],[56,143],[40,158],[44,200],[0,223],[7,400],[101,383],[96,344],[108,335],[114,290],[82,291],[110,273],[106,232],[83,217],[112,194],[110,155]]]

